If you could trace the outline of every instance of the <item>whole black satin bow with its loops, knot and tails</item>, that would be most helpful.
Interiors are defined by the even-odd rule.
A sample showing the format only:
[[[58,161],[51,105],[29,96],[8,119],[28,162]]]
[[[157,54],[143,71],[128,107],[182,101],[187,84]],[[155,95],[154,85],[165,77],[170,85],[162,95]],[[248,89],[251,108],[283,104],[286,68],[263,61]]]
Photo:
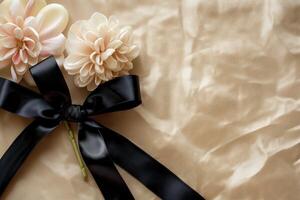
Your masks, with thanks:
[[[67,120],[79,123],[80,152],[105,199],[134,199],[115,164],[162,199],[204,199],[128,139],[89,118],[141,104],[137,76],[123,76],[100,85],[81,106],[72,105],[68,87],[53,57],[32,67],[30,72],[41,95],[0,78],[0,107],[35,119],[0,160],[0,196],[38,142],[62,120]]]

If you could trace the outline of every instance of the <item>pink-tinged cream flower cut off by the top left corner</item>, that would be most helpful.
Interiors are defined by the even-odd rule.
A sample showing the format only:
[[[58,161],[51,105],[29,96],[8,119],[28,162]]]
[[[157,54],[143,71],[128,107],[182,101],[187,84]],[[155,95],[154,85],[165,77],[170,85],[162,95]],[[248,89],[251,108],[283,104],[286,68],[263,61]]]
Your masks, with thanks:
[[[4,0],[0,4],[0,69],[10,67],[12,79],[29,83],[30,66],[54,55],[63,60],[68,12],[44,0]]]

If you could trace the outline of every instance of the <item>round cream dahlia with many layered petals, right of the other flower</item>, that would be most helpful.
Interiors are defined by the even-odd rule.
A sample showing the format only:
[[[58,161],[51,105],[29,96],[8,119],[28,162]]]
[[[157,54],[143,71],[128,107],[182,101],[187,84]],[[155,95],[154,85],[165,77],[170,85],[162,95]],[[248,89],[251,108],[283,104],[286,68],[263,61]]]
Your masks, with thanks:
[[[89,20],[78,21],[69,30],[64,68],[74,75],[78,87],[94,90],[99,84],[126,75],[139,54],[130,27],[95,13]]]

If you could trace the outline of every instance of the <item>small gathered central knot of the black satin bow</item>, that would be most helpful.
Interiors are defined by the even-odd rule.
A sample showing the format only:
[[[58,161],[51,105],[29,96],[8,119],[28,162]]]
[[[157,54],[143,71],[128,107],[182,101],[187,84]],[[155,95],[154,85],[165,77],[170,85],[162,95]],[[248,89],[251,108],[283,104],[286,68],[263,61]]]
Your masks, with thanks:
[[[70,122],[82,122],[87,118],[87,112],[81,105],[70,105],[63,109],[63,119]]]

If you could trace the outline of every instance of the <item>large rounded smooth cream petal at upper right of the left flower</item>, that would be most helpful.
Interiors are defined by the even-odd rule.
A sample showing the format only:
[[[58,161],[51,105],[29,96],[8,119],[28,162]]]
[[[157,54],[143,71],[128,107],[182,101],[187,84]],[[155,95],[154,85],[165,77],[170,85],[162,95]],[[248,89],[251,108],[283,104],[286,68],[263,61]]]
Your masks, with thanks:
[[[41,40],[52,38],[64,31],[68,24],[67,10],[60,4],[49,4],[36,16]]]

